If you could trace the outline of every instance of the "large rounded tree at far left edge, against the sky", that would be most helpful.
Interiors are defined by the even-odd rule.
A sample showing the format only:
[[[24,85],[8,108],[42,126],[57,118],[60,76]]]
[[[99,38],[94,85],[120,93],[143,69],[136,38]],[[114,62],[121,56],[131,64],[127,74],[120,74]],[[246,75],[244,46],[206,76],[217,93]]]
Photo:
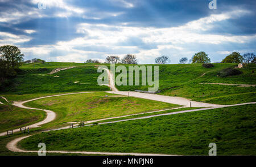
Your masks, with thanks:
[[[17,68],[22,65],[23,56],[16,46],[5,45],[0,47],[0,59],[5,61],[7,68]]]

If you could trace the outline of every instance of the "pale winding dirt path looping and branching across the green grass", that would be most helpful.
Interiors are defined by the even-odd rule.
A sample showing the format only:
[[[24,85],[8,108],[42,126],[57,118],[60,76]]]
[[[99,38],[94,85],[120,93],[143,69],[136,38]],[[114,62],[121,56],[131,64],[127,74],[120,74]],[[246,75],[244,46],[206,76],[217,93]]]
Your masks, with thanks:
[[[208,104],[208,103],[204,103],[204,102],[190,101],[190,100],[182,98],[182,97],[170,97],[170,96],[155,95],[155,94],[148,94],[148,93],[139,93],[139,92],[120,92],[120,91],[118,91],[117,88],[115,88],[114,80],[113,80],[113,75],[111,74],[111,72],[109,70],[107,70],[107,71],[108,71],[109,80],[110,80],[110,84],[108,86],[112,89],[112,91],[109,91],[108,93],[114,93],[114,94],[118,94],[118,95],[128,95],[128,93],[129,93],[129,96],[133,96],[133,97],[139,97],[139,98],[143,98],[143,99],[150,99],[150,100],[168,102],[168,103],[179,104],[179,105],[184,105],[184,106],[189,106],[190,102],[192,102],[192,106],[193,107],[196,106],[196,107],[208,107],[208,108],[184,110],[184,111],[180,111],[180,112],[172,112],[172,113],[165,113],[165,114],[158,114],[158,115],[150,115],[150,116],[146,116],[146,117],[122,119],[122,120],[119,120],[119,121],[101,122],[99,124],[131,121],[131,120],[135,120],[135,119],[146,119],[146,118],[152,118],[152,117],[159,117],[159,116],[162,116],[162,115],[171,115],[171,114],[179,114],[179,113],[196,112],[196,111],[200,111],[200,110],[217,109],[217,108],[224,108],[224,107],[229,107],[229,106],[256,104],[256,102],[247,102],[247,103],[235,104],[235,105],[216,105],[216,104]],[[36,108],[28,108],[26,106],[23,106],[23,104],[25,102],[34,101],[34,100],[38,100],[38,99],[44,99],[44,98],[47,98],[47,97],[74,95],[74,94],[80,94],[80,93],[96,93],[96,92],[65,93],[65,94],[61,94],[61,95],[52,95],[52,96],[38,97],[36,99],[22,101],[22,102],[16,102],[15,101],[13,105],[18,106],[20,108],[43,110],[43,109],[36,109]],[[168,109],[166,109],[166,110],[168,110]],[[38,122],[38,123],[35,123],[34,125],[30,125],[31,127],[32,126],[38,127],[39,125],[51,122],[51,121],[53,121],[53,119],[55,119],[56,115],[55,115],[54,112],[52,112],[50,110],[44,110],[44,111],[47,112],[47,118],[44,119],[44,121],[42,121],[42,122]],[[156,111],[156,112],[160,112],[160,111],[163,111],[163,110],[159,110],[159,111]],[[127,115],[123,115],[121,117],[127,117]],[[113,117],[113,118],[121,118],[121,117]],[[106,119],[113,119],[113,118],[98,119],[97,121],[102,121],[102,120],[106,120]],[[94,122],[96,122],[96,120],[94,120]],[[92,124],[86,125],[86,126],[92,126]],[[68,128],[69,128],[69,126],[62,127],[60,129],[68,129]],[[60,130],[60,129],[55,129],[55,130]],[[49,130],[49,131],[51,131],[51,130]],[[23,149],[20,149],[20,148],[17,147],[18,142],[20,142],[21,140],[23,140],[25,138],[28,138],[30,136],[31,135],[22,136],[20,138],[16,138],[16,139],[12,140],[11,142],[7,143],[7,145],[6,145],[7,149],[9,149],[10,151],[13,151],[13,152],[37,152],[37,151],[26,151],[26,150],[23,150]],[[86,152],[86,151],[47,151],[47,152],[48,153],[81,153],[81,154],[86,154],[86,155],[96,154],[96,155],[133,155],[133,156],[171,156],[171,155],[151,154],[151,153]]]

